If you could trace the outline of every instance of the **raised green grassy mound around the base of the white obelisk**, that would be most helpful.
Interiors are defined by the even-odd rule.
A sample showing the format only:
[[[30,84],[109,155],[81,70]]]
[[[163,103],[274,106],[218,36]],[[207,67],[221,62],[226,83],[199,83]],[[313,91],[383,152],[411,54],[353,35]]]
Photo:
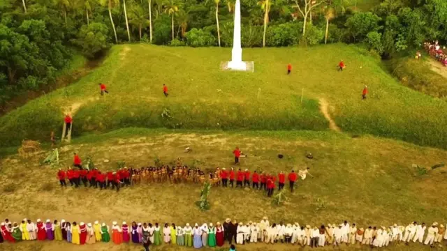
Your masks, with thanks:
[[[328,130],[318,100],[337,125],[447,148],[447,104],[398,84],[378,60],[354,45],[244,49],[254,73],[221,72],[230,48],[116,45],[103,65],[64,89],[0,118],[0,145],[60,134],[73,112],[75,136],[126,127]],[[347,68],[337,71],[344,59]],[[286,65],[292,63],[292,75]],[[101,97],[98,83],[110,94]],[[170,96],[162,93],[167,84]],[[369,98],[361,100],[365,84]],[[301,102],[301,95],[304,93]],[[168,112],[170,118],[161,114]]]

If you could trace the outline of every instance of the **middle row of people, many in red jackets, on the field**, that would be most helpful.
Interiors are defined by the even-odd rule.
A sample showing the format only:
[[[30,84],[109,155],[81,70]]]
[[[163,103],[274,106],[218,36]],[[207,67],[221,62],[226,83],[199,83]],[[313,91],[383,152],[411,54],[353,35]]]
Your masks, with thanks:
[[[235,150],[235,164],[239,163],[240,153]],[[257,190],[265,191],[268,197],[274,194],[275,188],[282,190],[288,182],[289,189],[293,192],[295,182],[300,177],[304,180],[309,174],[309,167],[304,170],[300,170],[295,173],[292,170],[290,173],[285,174],[279,172],[278,174],[268,174],[266,172],[258,173],[256,170],[250,172],[249,169],[238,169],[234,167],[229,170],[226,168],[220,169],[217,167],[215,170],[208,170],[206,173],[200,168],[189,168],[186,165],[182,165],[178,160],[177,165],[169,167],[168,165],[162,165],[161,167],[141,167],[141,168],[119,168],[116,172],[101,172],[98,168],[89,170],[82,167],[82,160],[79,155],[74,153],[73,166],[78,169],[72,169],[69,167],[66,170],[59,169],[57,177],[62,187],[66,187],[68,182],[71,186],[78,188],[84,185],[85,187],[108,189],[119,188],[123,185],[129,186],[142,182],[163,182],[170,181],[172,183],[180,183],[192,181],[195,183],[210,182],[212,185],[223,186],[231,188],[253,188]]]

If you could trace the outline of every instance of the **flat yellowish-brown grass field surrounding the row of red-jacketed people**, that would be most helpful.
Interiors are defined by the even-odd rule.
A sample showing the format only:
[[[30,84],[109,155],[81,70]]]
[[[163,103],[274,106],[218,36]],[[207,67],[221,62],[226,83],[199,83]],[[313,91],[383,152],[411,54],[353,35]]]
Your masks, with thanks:
[[[404,225],[412,220],[447,221],[447,200],[442,195],[447,189],[446,167],[428,174],[420,174],[411,167],[412,164],[431,167],[445,161],[447,152],[390,139],[353,139],[336,132],[205,133],[129,128],[75,139],[70,146],[61,148],[60,158],[61,166],[66,167],[71,165],[73,151],[82,158],[89,154],[101,170],[115,169],[119,161],[140,167],[154,165],[155,158],[172,163],[178,157],[187,165],[203,169],[229,168],[233,166],[231,151],[236,144],[244,153],[256,155],[243,158],[242,169],[289,172],[309,166],[314,178],[299,181],[293,194],[286,192],[288,200],[283,206],[272,206],[263,192],[212,188],[212,207],[201,212],[194,205],[200,185],[152,183],[124,188],[119,193],[61,189],[55,178],[57,169],[38,165],[45,153],[29,160],[11,155],[0,162],[3,204],[0,218],[64,218],[85,222],[135,219],[184,224],[216,222],[227,217],[245,222],[267,215],[272,221],[319,225],[349,219],[363,226],[388,226],[395,222]],[[184,153],[186,146],[193,151]],[[309,152],[314,154],[314,160],[305,158]],[[277,158],[278,153],[285,157]],[[104,163],[105,159],[110,162]],[[65,248],[65,245],[45,245],[43,250],[57,250],[54,247]],[[256,248],[251,246],[247,250]]]

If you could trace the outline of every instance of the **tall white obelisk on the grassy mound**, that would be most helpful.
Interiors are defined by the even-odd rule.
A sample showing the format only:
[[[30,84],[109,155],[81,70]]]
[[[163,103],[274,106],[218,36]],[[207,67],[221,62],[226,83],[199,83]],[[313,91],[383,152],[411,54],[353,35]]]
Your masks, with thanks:
[[[242,47],[240,45],[240,0],[235,4],[235,24],[233,33],[233,50],[228,68],[231,70],[247,70],[246,63],[242,61]]]

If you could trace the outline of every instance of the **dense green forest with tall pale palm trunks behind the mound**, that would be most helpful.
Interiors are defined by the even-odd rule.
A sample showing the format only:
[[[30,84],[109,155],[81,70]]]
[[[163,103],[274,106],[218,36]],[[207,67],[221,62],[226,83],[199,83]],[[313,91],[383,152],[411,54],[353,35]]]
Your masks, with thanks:
[[[242,46],[361,43],[381,56],[447,40],[445,0],[242,0]],[[372,3],[371,3],[372,2]],[[0,100],[114,43],[230,47],[235,0],[1,0]],[[365,7],[366,6],[366,7]],[[3,96],[2,96],[3,95]]]

